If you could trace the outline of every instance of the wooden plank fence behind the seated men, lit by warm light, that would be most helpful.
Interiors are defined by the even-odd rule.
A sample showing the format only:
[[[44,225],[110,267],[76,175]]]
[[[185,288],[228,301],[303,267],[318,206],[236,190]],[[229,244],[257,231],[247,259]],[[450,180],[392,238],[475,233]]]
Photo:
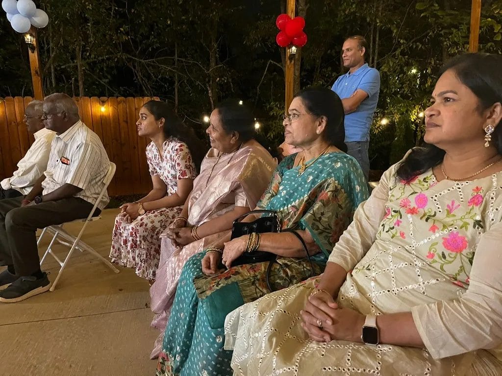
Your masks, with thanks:
[[[158,98],[74,98],[80,119],[101,138],[108,157],[117,165],[108,187],[110,196],[143,194],[152,187],[145,156],[149,140],[139,137],[136,127],[140,108],[151,99]],[[12,176],[34,141],[23,122],[25,107],[32,100],[0,98],[0,180]]]

